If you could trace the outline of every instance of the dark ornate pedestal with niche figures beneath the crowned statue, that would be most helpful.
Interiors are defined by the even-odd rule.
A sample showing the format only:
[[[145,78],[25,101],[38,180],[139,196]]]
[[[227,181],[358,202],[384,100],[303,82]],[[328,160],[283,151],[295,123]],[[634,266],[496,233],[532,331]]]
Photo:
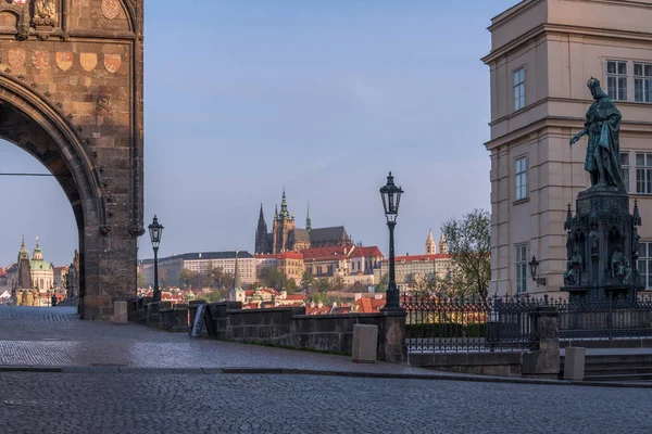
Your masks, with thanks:
[[[641,224],[638,204],[629,214],[627,193],[615,187],[592,187],[577,195],[576,215],[566,216],[567,271],[562,291],[570,299],[636,301]]]

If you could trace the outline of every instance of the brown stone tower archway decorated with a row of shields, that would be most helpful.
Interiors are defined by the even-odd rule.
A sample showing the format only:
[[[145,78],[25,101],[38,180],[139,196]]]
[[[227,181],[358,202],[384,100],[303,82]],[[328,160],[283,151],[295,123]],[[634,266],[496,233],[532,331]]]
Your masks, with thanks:
[[[142,0],[0,3],[0,137],[54,175],[79,230],[79,309],[136,294]]]

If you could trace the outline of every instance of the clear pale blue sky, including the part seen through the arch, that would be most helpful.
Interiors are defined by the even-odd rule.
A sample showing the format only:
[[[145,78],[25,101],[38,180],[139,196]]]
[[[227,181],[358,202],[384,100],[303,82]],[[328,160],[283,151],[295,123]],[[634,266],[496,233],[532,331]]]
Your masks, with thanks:
[[[489,209],[491,17],[518,0],[146,1],[146,226],[160,256],[253,251],[261,203],[272,228],[285,187],[304,227],[343,225],[388,253],[378,193],[405,191],[397,254],[428,230]],[[45,169],[0,141],[0,173]],[[72,208],[50,178],[0,177],[0,266],[21,235],[47,260],[77,248]],[[151,257],[139,239],[140,257]]]

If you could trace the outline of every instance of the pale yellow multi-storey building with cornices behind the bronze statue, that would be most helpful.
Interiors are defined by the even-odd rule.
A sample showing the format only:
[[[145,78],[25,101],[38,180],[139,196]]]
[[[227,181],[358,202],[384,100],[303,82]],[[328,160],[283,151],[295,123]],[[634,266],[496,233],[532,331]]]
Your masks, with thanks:
[[[557,293],[566,269],[566,205],[589,184],[591,77],[623,113],[620,152],[643,217],[639,269],[652,285],[652,0],[525,0],[496,16],[491,52],[489,294]],[[634,206],[631,201],[630,206]],[[527,263],[536,255],[538,286]],[[649,264],[650,263],[650,264]]]

